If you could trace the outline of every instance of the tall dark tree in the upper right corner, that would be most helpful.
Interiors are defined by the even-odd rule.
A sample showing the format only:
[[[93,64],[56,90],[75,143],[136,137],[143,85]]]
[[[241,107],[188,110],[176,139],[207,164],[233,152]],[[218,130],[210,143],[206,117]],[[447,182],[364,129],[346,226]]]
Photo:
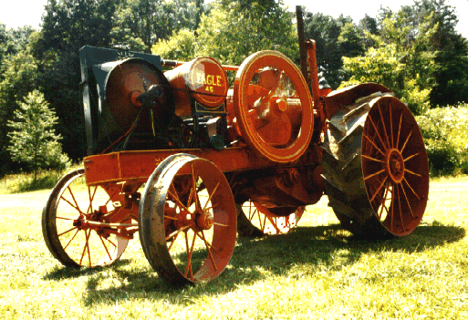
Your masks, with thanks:
[[[396,16],[399,20],[395,30],[405,30],[403,33],[406,37],[399,42],[399,46],[412,46],[413,51],[432,56],[432,63],[428,65],[424,59],[413,55],[413,64],[417,64],[418,59],[421,64],[410,75],[413,78],[426,76],[418,77],[417,81],[431,89],[429,98],[432,107],[466,101],[468,47],[466,39],[455,30],[458,23],[455,8],[445,0],[415,0],[413,5],[402,6],[396,14],[390,9],[382,9],[382,25],[386,21],[384,18],[389,16]],[[421,35],[424,35],[424,41],[419,41]],[[381,36],[387,43],[395,42],[395,38],[389,34],[382,33]],[[424,79],[428,81],[421,83]]]

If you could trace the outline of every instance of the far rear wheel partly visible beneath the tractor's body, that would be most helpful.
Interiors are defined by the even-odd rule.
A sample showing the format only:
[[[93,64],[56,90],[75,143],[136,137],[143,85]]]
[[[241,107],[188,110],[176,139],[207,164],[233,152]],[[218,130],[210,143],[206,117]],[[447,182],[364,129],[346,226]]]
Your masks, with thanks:
[[[245,201],[242,204],[242,211],[247,220],[264,234],[271,235],[289,232],[297,225],[305,210],[305,207],[298,207],[289,215],[277,216],[254,201]]]

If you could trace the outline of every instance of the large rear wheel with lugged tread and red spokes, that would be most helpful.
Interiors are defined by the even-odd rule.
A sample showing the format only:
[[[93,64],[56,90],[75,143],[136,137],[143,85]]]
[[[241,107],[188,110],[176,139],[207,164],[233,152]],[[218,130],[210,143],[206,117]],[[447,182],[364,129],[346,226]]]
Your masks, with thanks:
[[[429,193],[429,166],[411,111],[391,94],[343,106],[328,123],[324,178],[330,206],[360,236],[411,233]]]

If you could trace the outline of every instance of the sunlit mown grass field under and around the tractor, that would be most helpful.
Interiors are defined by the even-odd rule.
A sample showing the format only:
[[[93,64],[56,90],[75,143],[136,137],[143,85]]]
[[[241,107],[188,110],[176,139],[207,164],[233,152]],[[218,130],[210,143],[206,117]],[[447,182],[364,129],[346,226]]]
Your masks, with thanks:
[[[354,239],[327,197],[284,235],[238,239],[224,274],[176,289],[138,239],[108,268],[69,270],[47,251],[48,191],[0,195],[2,319],[468,318],[468,178],[431,181],[421,225],[390,241]]]

